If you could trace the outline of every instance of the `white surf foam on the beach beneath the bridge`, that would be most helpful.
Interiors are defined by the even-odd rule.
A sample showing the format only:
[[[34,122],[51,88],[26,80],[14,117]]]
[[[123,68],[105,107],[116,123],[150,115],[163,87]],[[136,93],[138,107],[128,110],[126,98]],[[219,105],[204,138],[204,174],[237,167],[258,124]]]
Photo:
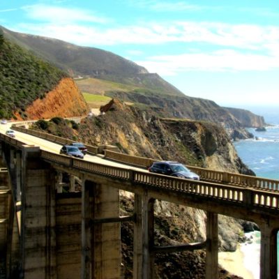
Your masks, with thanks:
[[[254,276],[259,279],[259,250],[260,250],[260,232],[249,232],[246,237],[251,243],[242,243],[241,252],[243,252],[243,263]]]

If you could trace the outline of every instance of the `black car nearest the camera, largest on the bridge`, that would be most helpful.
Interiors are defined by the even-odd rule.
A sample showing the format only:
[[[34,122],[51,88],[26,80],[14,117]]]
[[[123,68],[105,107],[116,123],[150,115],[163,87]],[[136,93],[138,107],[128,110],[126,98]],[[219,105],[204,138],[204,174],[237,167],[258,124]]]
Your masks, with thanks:
[[[149,167],[149,172],[176,176],[184,179],[199,180],[199,176],[195,174],[195,172],[191,172],[190,169],[181,163],[172,161],[154,162],[151,167]]]

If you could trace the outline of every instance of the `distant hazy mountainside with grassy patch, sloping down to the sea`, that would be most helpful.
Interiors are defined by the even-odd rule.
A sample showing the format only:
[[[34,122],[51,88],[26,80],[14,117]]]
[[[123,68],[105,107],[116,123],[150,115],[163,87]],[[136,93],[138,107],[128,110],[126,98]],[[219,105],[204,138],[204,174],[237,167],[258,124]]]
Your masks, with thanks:
[[[66,70],[72,77],[83,77],[77,81],[82,92],[95,93],[98,84],[113,82],[119,86],[106,89],[102,95],[119,98],[137,107],[150,108],[160,117],[178,117],[208,120],[232,128],[232,135],[249,137],[243,130],[243,123],[227,109],[210,100],[190,98],[163,80],[156,73],[148,71],[123,57],[94,47],[79,47],[70,43],[42,36],[32,36],[9,31],[1,27],[4,35],[39,57],[52,61]],[[93,77],[95,79],[90,79]],[[89,78],[89,80],[86,80]],[[98,86],[97,86],[98,87]],[[259,119],[259,123],[262,121]],[[255,125],[261,126],[255,118]],[[234,129],[237,130],[235,133]]]

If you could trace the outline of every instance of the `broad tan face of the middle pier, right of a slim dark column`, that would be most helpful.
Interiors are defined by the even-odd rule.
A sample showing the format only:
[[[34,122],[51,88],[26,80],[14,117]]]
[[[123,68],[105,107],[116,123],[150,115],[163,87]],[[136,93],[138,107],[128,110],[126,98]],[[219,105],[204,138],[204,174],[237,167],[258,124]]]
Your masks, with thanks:
[[[84,199],[88,199],[86,195]],[[93,219],[119,218],[119,189],[106,184],[95,184],[95,187],[93,187],[93,199]],[[84,229],[86,228],[84,227]],[[120,278],[120,223],[94,224],[91,227],[91,239],[93,243],[92,278]]]

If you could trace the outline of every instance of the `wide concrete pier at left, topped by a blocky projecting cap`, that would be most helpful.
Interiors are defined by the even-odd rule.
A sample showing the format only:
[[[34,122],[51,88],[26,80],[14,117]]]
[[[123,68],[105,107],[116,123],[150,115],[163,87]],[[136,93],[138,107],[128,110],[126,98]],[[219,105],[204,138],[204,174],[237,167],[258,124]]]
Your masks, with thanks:
[[[54,192],[54,175],[40,160],[39,147],[24,146],[19,278],[56,278]]]

